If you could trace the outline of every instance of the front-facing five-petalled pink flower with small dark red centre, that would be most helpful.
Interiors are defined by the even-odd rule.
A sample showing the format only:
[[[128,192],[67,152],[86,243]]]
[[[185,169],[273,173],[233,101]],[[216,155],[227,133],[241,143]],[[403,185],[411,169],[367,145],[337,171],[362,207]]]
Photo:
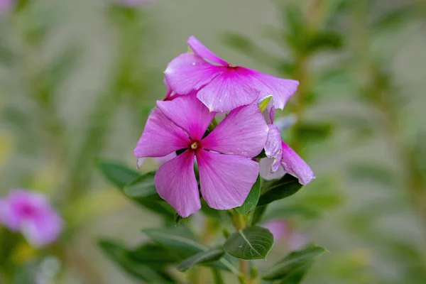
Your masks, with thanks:
[[[256,182],[259,166],[251,160],[265,146],[268,126],[255,104],[239,107],[206,137],[214,118],[195,95],[158,101],[134,150],[137,158],[180,155],[160,166],[155,174],[158,194],[182,217],[201,208],[194,171],[200,173],[204,200],[214,209],[241,206]]]

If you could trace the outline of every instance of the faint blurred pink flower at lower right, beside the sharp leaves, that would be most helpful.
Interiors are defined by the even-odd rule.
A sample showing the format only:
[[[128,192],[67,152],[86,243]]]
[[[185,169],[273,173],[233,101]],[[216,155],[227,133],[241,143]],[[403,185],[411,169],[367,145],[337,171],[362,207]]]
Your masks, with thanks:
[[[271,231],[275,241],[285,241],[291,251],[302,249],[307,243],[305,234],[293,230],[285,220],[273,219],[262,226]]]

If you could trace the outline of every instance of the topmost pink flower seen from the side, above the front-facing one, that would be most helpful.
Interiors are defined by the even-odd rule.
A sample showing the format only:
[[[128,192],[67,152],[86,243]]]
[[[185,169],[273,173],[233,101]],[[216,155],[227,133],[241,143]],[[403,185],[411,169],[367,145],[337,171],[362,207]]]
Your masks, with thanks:
[[[187,40],[195,54],[184,53],[165,70],[165,80],[178,94],[197,92],[210,111],[230,111],[272,95],[283,109],[299,82],[280,79],[246,67],[231,65],[207,49],[193,35]]]

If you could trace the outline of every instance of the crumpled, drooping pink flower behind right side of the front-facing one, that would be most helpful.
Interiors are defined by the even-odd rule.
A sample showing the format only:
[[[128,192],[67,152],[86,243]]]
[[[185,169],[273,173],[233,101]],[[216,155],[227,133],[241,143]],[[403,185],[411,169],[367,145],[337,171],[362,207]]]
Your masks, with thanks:
[[[273,180],[289,173],[298,178],[300,184],[307,185],[315,178],[315,175],[305,160],[281,140],[280,129],[273,124],[273,113],[273,107],[269,113],[268,110],[263,112],[263,116],[269,123],[269,131],[265,145],[265,154],[268,158],[261,159],[259,163],[261,177],[265,180]]]

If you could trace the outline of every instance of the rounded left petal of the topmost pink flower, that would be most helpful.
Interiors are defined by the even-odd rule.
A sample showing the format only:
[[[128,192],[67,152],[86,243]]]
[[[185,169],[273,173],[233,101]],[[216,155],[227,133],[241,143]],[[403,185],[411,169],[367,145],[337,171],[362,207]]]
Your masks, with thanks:
[[[178,94],[188,94],[202,88],[223,72],[198,55],[184,53],[173,59],[164,71],[165,80]]]

